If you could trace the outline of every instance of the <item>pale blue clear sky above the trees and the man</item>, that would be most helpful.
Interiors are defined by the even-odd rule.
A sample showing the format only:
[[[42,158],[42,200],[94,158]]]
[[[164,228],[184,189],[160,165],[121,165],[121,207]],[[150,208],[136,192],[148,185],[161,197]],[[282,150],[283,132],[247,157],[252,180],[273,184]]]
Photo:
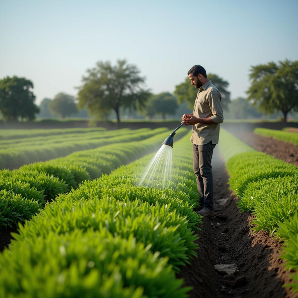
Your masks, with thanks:
[[[194,64],[245,96],[250,66],[298,59],[298,0],[0,0],[0,79],[33,81],[36,102],[77,94],[86,69],[126,58],[154,93]]]

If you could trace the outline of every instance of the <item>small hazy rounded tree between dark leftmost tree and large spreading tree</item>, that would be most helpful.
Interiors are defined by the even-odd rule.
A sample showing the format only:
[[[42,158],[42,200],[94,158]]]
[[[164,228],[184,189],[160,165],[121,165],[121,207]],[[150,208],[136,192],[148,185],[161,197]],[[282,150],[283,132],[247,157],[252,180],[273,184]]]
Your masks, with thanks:
[[[53,115],[58,115],[63,119],[66,116],[77,113],[77,105],[75,97],[65,93],[58,93],[48,105],[50,112]]]

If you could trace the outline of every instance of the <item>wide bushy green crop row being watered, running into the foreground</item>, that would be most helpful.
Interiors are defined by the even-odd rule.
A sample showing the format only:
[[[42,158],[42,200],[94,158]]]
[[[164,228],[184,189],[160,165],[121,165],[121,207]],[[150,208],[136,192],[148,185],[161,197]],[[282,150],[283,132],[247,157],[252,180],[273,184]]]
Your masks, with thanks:
[[[165,189],[137,186],[151,154],[59,195],[20,225],[0,255],[0,296],[187,297],[175,271],[196,255],[201,217],[189,135],[176,140]]]

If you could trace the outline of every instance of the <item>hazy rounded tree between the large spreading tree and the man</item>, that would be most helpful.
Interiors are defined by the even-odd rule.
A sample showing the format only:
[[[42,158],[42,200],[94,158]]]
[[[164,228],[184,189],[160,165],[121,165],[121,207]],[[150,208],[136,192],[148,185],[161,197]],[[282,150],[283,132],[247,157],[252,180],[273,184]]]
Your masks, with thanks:
[[[145,108],[145,115],[151,119],[156,114],[161,114],[165,119],[166,114],[173,115],[178,108],[177,98],[169,92],[152,95]]]

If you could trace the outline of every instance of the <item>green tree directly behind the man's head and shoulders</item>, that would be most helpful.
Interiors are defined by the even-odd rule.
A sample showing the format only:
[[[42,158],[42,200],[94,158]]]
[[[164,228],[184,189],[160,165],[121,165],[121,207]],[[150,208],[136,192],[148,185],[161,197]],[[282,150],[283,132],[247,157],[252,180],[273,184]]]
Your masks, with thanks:
[[[230,92],[227,91],[226,88],[229,86],[229,83],[215,74],[207,74],[207,78],[212,81],[212,84],[214,84],[221,93],[221,105],[223,109],[228,110],[228,104],[231,100]],[[178,103],[186,101],[189,103],[188,106],[191,109],[193,109],[197,93],[198,89],[195,89],[195,87],[190,84],[189,77],[187,77],[183,83],[177,85],[174,91],[174,94],[177,95]]]

